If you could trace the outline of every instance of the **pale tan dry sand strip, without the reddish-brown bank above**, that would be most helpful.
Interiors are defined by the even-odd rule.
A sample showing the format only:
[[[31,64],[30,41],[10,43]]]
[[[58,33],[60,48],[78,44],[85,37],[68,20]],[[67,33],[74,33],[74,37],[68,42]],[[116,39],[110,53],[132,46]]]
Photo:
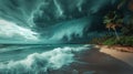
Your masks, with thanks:
[[[96,45],[96,47],[100,49],[100,52],[109,54],[133,66],[133,53],[132,52],[130,53],[130,52],[117,51],[117,50],[114,50],[115,47],[111,49],[111,47],[108,47],[106,45]],[[131,50],[133,50],[133,47],[131,47]]]

